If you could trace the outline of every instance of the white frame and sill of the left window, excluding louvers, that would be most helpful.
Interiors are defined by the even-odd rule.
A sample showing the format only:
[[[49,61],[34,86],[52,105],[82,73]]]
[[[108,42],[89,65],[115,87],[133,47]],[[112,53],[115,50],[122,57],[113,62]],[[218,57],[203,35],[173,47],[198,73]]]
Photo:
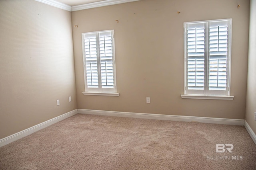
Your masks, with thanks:
[[[101,72],[101,57],[100,57],[100,34],[104,33],[111,33],[111,41],[112,41],[112,70],[113,70],[113,88],[102,88],[104,85],[102,85],[102,73]],[[98,87],[89,87],[88,85],[88,74],[86,72],[86,48],[85,48],[85,36],[93,35],[95,34],[96,37],[96,69],[98,74]],[[104,46],[105,47],[105,46]],[[98,95],[98,96],[119,96],[119,93],[116,92],[116,61],[115,61],[115,44],[114,44],[114,30],[105,30],[105,31],[94,31],[94,32],[88,32],[88,33],[82,33],[82,52],[83,52],[83,61],[84,61],[84,85],[85,85],[85,92],[82,92],[84,95]],[[106,53],[104,53],[105,55]],[[87,57],[88,58],[88,57]],[[87,63],[88,64],[88,63]],[[92,72],[92,70],[90,70]],[[107,79],[107,76],[106,76]],[[107,80],[106,80],[107,81]]]

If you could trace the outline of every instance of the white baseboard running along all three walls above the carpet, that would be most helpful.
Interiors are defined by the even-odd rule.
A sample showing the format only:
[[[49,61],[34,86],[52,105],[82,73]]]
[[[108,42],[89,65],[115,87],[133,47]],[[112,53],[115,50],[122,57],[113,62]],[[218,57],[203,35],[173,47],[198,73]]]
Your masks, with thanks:
[[[160,115],[160,114],[150,114],[150,113],[130,113],[130,112],[119,112],[119,111],[102,111],[102,110],[88,110],[88,109],[75,109],[58,117],[54,117],[48,121],[42,122],[38,125],[0,139],[0,147],[7,145],[8,143],[14,142],[22,137],[26,137],[36,131],[44,129],[54,123],[62,121],[68,117],[80,114],[90,114],[90,115],[105,115],[105,116],[117,116],[117,117],[131,117],[140,119],[156,119],[156,120],[170,120],[170,121],[192,121],[201,123],[216,123],[224,125],[241,125],[245,126],[246,130],[252,137],[252,140],[256,144],[256,135],[244,119],[224,119],[224,118],[214,118],[214,117],[195,117],[195,116],[182,116],[182,115]]]

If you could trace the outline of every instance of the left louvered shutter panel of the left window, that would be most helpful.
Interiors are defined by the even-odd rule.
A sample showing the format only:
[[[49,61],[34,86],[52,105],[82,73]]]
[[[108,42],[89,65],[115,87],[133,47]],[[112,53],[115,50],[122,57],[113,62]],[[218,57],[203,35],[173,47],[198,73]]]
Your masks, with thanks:
[[[84,49],[86,61],[86,80],[88,88],[98,88],[98,66],[97,66],[97,38],[96,33],[84,35]]]

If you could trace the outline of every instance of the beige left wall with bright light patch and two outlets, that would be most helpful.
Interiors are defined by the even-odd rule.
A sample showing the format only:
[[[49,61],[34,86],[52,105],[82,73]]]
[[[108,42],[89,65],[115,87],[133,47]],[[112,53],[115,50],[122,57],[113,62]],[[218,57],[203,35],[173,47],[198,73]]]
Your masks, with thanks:
[[[0,0],[0,30],[0,139],[76,109],[71,13]]]

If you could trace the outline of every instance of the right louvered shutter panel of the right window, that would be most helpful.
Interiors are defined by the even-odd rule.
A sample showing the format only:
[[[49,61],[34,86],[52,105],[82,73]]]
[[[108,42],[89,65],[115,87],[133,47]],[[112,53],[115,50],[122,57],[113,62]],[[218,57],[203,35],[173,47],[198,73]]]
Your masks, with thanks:
[[[209,22],[209,90],[226,90],[228,21]]]

